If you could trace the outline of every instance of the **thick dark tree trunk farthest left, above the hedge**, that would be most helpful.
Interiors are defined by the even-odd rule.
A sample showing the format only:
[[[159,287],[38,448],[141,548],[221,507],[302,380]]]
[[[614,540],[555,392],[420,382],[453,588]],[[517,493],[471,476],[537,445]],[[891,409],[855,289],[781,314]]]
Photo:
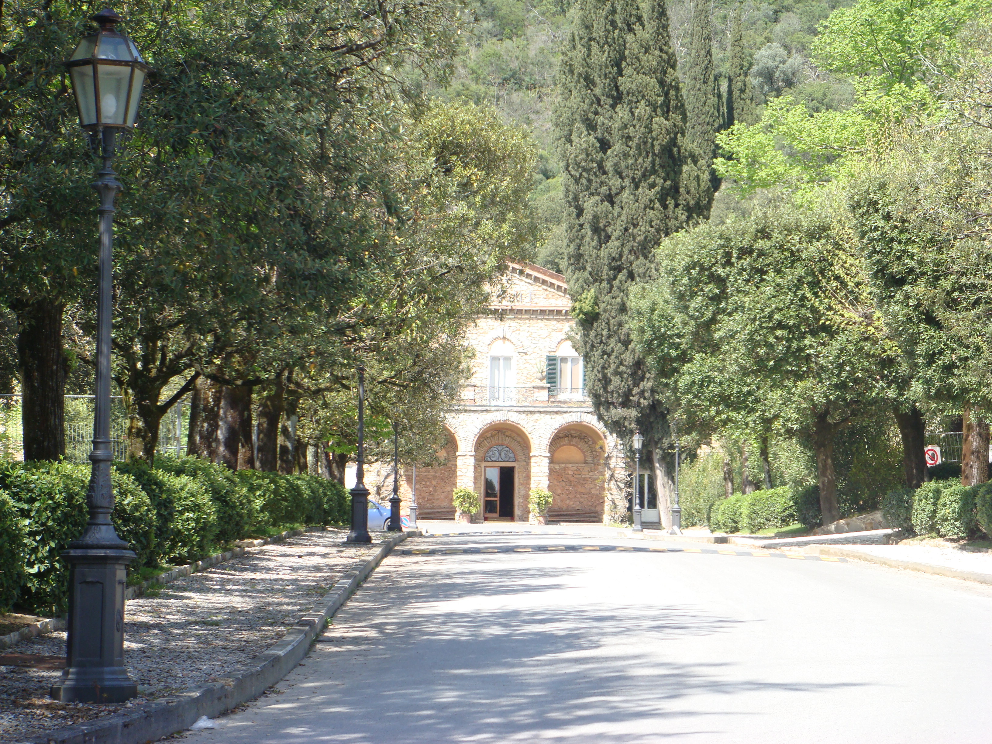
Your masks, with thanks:
[[[65,354],[61,303],[39,301],[19,309],[18,367],[24,459],[57,460],[65,454]]]

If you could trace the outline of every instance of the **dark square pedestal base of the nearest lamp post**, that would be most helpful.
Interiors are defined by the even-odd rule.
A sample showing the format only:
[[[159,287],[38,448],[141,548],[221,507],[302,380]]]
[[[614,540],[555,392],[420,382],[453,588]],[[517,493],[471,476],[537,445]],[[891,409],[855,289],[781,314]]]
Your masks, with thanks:
[[[124,668],[124,592],[135,555],[112,548],[62,553],[69,568],[66,669],[49,694],[61,702],[123,702],[138,694]]]

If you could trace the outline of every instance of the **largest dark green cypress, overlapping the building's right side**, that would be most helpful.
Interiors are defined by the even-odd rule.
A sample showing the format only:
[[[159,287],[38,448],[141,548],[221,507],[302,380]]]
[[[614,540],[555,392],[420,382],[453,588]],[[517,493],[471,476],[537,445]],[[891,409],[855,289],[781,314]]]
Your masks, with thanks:
[[[654,277],[661,239],[706,210],[682,188],[685,109],[664,3],[579,0],[558,88],[565,273],[585,384],[611,432],[628,443],[644,434],[664,502],[667,409],[631,343],[627,293]]]

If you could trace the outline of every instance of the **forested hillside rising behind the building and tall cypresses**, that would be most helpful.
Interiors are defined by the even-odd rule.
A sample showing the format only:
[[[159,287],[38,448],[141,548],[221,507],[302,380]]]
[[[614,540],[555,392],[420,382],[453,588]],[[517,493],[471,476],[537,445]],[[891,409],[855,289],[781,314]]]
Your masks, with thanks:
[[[713,71],[721,101],[726,99],[731,71],[733,12],[736,9],[740,13],[748,97],[737,107],[738,120],[756,120],[768,98],[783,94],[792,94],[813,110],[843,109],[851,104],[850,84],[817,69],[809,60],[817,25],[835,7],[847,4],[845,0],[712,3]],[[476,1],[471,7],[475,23],[456,58],[451,84],[434,91],[441,98],[492,104],[508,121],[521,125],[534,137],[539,161],[533,198],[547,236],[538,249],[537,262],[555,271],[562,271],[564,266],[560,168],[552,112],[559,49],[569,31],[570,6],[570,0]],[[692,9],[691,0],[668,5],[682,77],[689,55]],[[717,197],[717,212],[727,210],[726,200],[726,196]]]

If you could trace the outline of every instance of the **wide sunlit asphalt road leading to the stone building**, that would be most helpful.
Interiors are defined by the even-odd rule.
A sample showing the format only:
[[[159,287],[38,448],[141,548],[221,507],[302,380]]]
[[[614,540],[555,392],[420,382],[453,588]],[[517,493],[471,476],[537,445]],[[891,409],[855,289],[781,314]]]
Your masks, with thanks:
[[[635,545],[408,541],[432,552],[383,561],[277,690],[185,738],[992,741],[992,587],[741,549],[604,550]]]

